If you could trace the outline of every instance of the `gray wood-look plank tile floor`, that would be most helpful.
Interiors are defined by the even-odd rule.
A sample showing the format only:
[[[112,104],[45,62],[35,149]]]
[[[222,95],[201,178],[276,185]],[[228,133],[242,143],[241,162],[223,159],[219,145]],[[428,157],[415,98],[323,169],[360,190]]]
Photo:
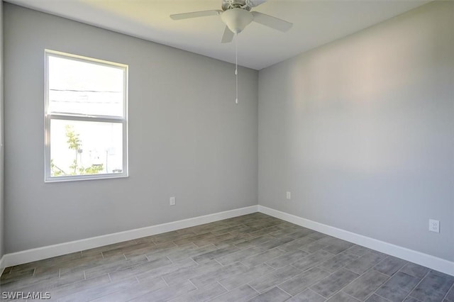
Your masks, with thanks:
[[[253,213],[8,267],[0,294],[47,292],[51,301],[454,302],[453,284],[453,276]]]

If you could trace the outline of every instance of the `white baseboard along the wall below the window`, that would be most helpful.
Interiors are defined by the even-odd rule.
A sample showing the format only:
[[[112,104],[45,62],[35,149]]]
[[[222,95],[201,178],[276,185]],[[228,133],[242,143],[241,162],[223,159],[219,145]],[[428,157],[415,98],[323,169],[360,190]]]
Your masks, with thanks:
[[[258,212],[258,206],[248,206],[245,208],[236,208],[230,211],[224,211],[205,216],[198,216],[184,220],[178,220],[171,223],[162,223],[160,225],[152,225],[145,228],[137,228],[134,230],[126,230],[124,232],[113,233],[109,235],[102,235],[91,237],[82,240],[71,242],[64,242],[57,245],[49,245],[47,247],[38,247],[31,250],[21,252],[13,252],[4,255],[0,260],[1,267],[11,267],[37,260],[42,260],[50,257],[69,254],[72,252],[79,252],[81,250],[88,250],[94,247],[101,247],[104,245],[111,245],[126,240],[133,240],[140,237],[156,235],[160,233],[170,232],[172,230],[179,230],[181,228],[189,228],[194,225],[201,225],[204,223],[212,223],[214,221],[242,216],[250,213]],[[3,269],[0,269],[3,272]]]

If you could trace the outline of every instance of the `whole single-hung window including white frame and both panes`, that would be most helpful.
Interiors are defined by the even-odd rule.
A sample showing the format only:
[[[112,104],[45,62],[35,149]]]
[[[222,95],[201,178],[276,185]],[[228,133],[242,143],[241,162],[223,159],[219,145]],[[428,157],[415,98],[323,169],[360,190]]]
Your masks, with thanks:
[[[128,66],[45,50],[45,181],[128,176]]]

